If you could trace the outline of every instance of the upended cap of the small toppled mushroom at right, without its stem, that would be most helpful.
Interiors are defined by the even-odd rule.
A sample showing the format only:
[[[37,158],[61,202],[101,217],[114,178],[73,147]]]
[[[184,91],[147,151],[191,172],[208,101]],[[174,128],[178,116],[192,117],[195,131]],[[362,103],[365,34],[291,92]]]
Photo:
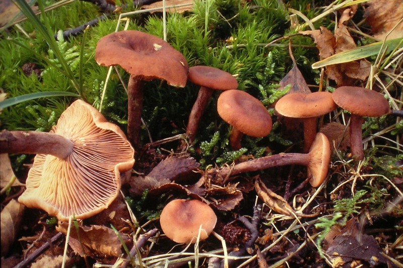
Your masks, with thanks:
[[[330,163],[330,152],[329,140],[326,135],[318,132],[309,151],[311,160],[307,166],[307,174],[312,176],[309,183],[313,187],[320,186],[326,178]]]

